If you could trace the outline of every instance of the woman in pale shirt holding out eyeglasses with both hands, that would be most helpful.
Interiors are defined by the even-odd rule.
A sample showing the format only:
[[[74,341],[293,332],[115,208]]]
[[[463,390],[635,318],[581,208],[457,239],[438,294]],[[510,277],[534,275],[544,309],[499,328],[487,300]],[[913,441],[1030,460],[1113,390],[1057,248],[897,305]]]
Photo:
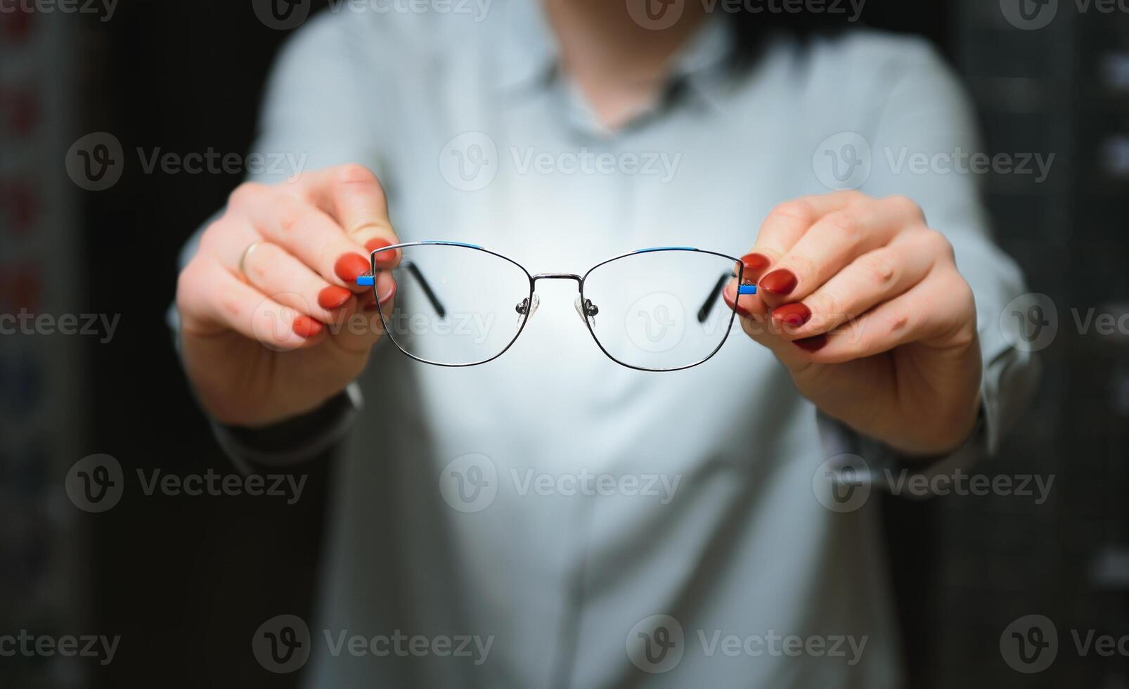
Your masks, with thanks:
[[[974,180],[898,165],[977,150],[954,78],[917,41],[747,3],[488,7],[303,27],[256,150],[310,172],[237,189],[181,276],[225,447],[340,446],[310,686],[896,686],[876,502],[829,477],[991,452],[1033,367]],[[758,294],[728,280],[747,338],[679,373],[603,357],[569,280],[517,304],[504,357],[427,366],[382,343],[388,284],[357,286],[421,239],[563,273],[694,245]]]

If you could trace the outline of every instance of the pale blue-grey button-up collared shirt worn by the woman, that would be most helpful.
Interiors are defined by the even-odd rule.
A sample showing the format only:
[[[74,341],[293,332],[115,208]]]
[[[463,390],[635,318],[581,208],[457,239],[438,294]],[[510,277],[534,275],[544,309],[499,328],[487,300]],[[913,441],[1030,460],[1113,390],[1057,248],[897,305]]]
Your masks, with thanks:
[[[903,151],[978,150],[963,94],[925,44],[861,30],[781,38],[727,78],[726,27],[710,21],[673,69],[681,87],[607,132],[555,69],[532,1],[499,0],[483,21],[347,6],[310,19],[279,58],[255,150],[373,167],[403,241],[480,244],[531,272],[584,273],[645,246],[739,256],[774,204],[839,183],[829,146],[864,141],[868,175],[844,183],[920,203],[977,297],[983,424],[928,470],[995,447],[1031,372],[999,330],[1023,286],[987,235],[974,175],[895,165]],[[460,175],[452,149],[473,145],[485,165]],[[546,152],[548,173],[523,166]],[[597,152],[614,169],[571,169]],[[632,156],[655,172],[621,165]],[[331,503],[308,686],[895,686],[877,500],[825,507],[821,465],[896,457],[817,416],[738,328],[697,368],[618,366],[575,291],[539,282],[537,313],[483,366],[377,347]],[[487,485],[465,482],[478,478]],[[334,656],[342,631],[429,645]],[[453,651],[463,636],[470,655],[432,644]]]

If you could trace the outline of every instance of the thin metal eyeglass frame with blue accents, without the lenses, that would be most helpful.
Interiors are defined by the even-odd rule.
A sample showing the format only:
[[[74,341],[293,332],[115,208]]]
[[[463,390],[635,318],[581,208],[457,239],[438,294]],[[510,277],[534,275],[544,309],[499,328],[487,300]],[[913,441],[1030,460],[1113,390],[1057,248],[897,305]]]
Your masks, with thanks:
[[[488,254],[490,254],[492,256],[497,256],[497,258],[499,258],[499,259],[501,259],[504,261],[508,261],[509,263],[513,263],[523,273],[525,273],[525,277],[528,278],[528,280],[530,280],[530,291],[528,291],[528,295],[516,307],[517,313],[519,315],[525,316],[525,317],[522,319],[522,324],[518,326],[517,332],[514,333],[513,339],[510,339],[510,341],[506,344],[506,347],[504,347],[501,351],[499,351],[498,354],[493,355],[489,359],[483,359],[481,361],[473,361],[473,363],[470,363],[470,364],[447,364],[447,363],[444,363],[444,361],[431,361],[429,359],[425,359],[422,357],[418,357],[418,356],[413,355],[412,352],[410,352],[406,349],[404,349],[403,347],[401,347],[400,343],[396,342],[395,338],[390,338],[392,340],[392,342],[396,346],[396,349],[399,349],[400,351],[404,352],[406,356],[411,357],[412,359],[415,359],[417,361],[420,361],[420,363],[423,363],[423,364],[430,364],[432,366],[445,366],[445,367],[448,367],[448,368],[465,368],[467,366],[481,366],[482,364],[489,364],[490,361],[493,361],[495,359],[497,359],[501,355],[504,355],[507,351],[509,351],[509,348],[514,346],[514,342],[517,341],[517,338],[519,338],[522,335],[522,331],[525,330],[525,324],[528,323],[530,316],[532,315],[530,313],[531,312],[530,306],[534,304],[534,293],[536,291],[537,280],[575,280],[577,282],[577,288],[579,289],[579,293],[580,293],[580,299],[579,299],[578,304],[579,304],[579,307],[584,308],[584,313],[581,314],[581,319],[584,320],[585,326],[588,329],[588,333],[592,335],[593,341],[596,342],[596,347],[598,347],[599,350],[602,352],[604,352],[604,356],[606,356],[609,359],[615,361],[620,366],[624,366],[627,368],[631,368],[631,369],[634,369],[634,370],[646,370],[646,372],[656,372],[656,373],[659,373],[659,372],[667,372],[667,370],[685,370],[686,368],[693,368],[694,366],[700,366],[701,364],[704,364],[706,361],[710,360],[714,357],[714,355],[716,355],[718,351],[720,351],[721,347],[725,344],[725,341],[729,338],[729,331],[733,330],[733,321],[736,317],[736,309],[732,309],[730,311],[730,313],[729,313],[729,323],[726,325],[725,334],[721,335],[721,341],[718,342],[717,347],[715,347],[714,350],[710,351],[709,355],[707,355],[704,358],[702,358],[702,359],[700,359],[698,361],[694,361],[693,364],[688,364],[686,366],[676,366],[674,368],[647,368],[647,367],[644,367],[644,366],[633,366],[631,364],[625,364],[625,363],[616,359],[615,357],[613,357],[611,355],[611,352],[609,352],[607,349],[605,349],[604,346],[599,342],[599,338],[596,337],[595,331],[592,329],[592,322],[589,320],[592,316],[595,316],[598,313],[598,308],[592,303],[590,299],[588,299],[587,297],[584,296],[584,284],[585,284],[585,280],[587,280],[588,276],[590,276],[592,272],[594,270],[596,270],[597,268],[599,268],[602,265],[606,265],[607,263],[611,263],[613,261],[619,261],[620,259],[625,259],[628,256],[633,256],[633,255],[637,255],[637,254],[654,253],[654,252],[659,252],[659,251],[693,251],[693,252],[698,252],[698,253],[711,254],[711,255],[719,256],[719,258],[723,258],[723,259],[729,259],[730,261],[733,261],[734,265],[737,267],[736,278],[737,278],[737,294],[738,294],[738,296],[739,295],[754,295],[754,294],[756,294],[756,286],[755,285],[745,285],[744,281],[743,281],[744,263],[742,263],[741,259],[737,259],[735,256],[730,256],[729,254],[724,254],[724,253],[720,253],[720,252],[717,252],[717,251],[707,251],[704,248],[695,248],[693,246],[654,246],[654,247],[650,247],[650,248],[639,248],[637,251],[631,251],[631,252],[628,252],[628,253],[624,253],[624,254],[620,254],[618,256],[612,256],[611,259],[607,259],[605,261],[601,261],[599,263],[596,263],[595,265],[593,265],[592,268],[589,268],[588,271],[584,273],[584,276],[579,276],[579,274],[576,274],[576,273],[567,273],[567,272],[542,272],[542,273],[533,274],[528,270],[526,270],[524,265],[522,265],[517,261],[510,259],[509,256],[505,256],[505,255],[502,255],[500,253],[490,251],[489,248],[483,248],[482,246],[479,246],[478,244],[466,244],[464,242],[404,242],[404,243],[401,243],[401,244],[393,244],[392,246],[384,246],[384,247],[377,248],[377,250],[373,251],[371,253],[369,253],[369,256],[368,256],[368,260],[369,260],[369,272],[366,273],[366,274],[364,274],[364,276],[358,276],[357,277],[357,285],[364,286],[364,287],[373,287],[374,294],[376,293],[376,273],[377,273],[376,254],[384,253],[384,252],[387,252],[387,251],[395,251],[397,248],[405,248],[405,247],[409,247],[409,246],[431,246],[431,245],[435,245],[435,246],[461,246],[463,248],[472,248],[474,251],[481,251],[481,252],[488,253]],[[411,276],[415,280],[419,281],[420,288],[422,289],[423,295],[428,298],[428,302],[430,302],[431,306],[435,308],[435,311],[439,315],[439,317],[446,316],[446,309],[444,308],[441,300],[435,294],[435,290],[431,289],[430,284],[427,281],[427,279],[420,272],[419,268],[417,268],[414,263],[409,263],[409,264],[404,265],[404,269],[408,270],[408,272],[411,273]],[[698,322],[699,323],[704,323],[706,320],[709,317],[710,313],[714,309],[714,304],[717,302],[718,295],[721,293],[721,289],[725,287],[725,284],[727,281],[729,281],[734,276],[730,274],[730,273],[723,273],[721,277],[718,278],[717,282],[714,285],[714,288],[710,290],[709,296],[706,297],[706,300],[702,304],[701,308],[698,309]],[[379,295],[375,295],[375,296],[378,297]],[[380,313],[380,321],[384,322],[384,326],[385,326],[385,329],[387,329],[388,324],[385,321],[384,311],[380,309],[379,313]]]

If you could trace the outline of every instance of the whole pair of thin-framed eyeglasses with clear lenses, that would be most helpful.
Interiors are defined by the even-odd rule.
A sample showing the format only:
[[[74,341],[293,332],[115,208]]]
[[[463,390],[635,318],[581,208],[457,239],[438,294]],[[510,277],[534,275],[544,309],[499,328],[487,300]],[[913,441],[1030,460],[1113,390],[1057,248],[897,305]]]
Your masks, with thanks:
[[[410,242],[369,255],[371,286],[391,309],[385,332],[409,357],[436,366],[497,359],[537,311],[540,280],[575,280],[576,312],[596,346],[637,370],[681,370],[704,363],[725,343],[734,308],[721,299],[729,280],[739,295],[739,259],[689,246],[640,248],[596,264],[584,276],[532,274],[516,261],[474,244]],[[721,302],[720,306],[717,303]],[[387,312],[387,313],[386,313]]]

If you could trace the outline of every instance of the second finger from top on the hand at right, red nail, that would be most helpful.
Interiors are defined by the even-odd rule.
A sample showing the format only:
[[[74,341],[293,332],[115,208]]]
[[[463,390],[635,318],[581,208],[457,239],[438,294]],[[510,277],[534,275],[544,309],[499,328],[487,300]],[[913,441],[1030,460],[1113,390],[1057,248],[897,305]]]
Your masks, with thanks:
[[[832,211],[758,281],[761,298],[772,307],[803,299],[858,256],[918,227],[925,227],[925,219],[917,206],[895,198]]]

